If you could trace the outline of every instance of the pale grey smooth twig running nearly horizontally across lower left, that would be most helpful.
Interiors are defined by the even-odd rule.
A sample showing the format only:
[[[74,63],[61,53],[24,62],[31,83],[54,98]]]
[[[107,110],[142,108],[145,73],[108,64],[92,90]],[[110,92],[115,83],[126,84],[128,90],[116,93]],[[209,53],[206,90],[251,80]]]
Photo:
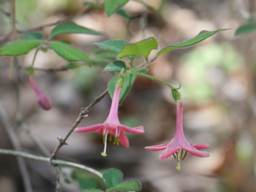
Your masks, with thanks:
[[[42,157],[42,156],[37,156],[37,155],[32,155],[32,154],[29,154],[29,153],[25,153],[25,152],[22,152],[22,151],[1,149],[1,148],[0,148],[0,154],[2,154],[2,155],[14,155],[14,156],[19,156],[19,157],[32,159],[32,160],[35,160],[35,161],[41,161],[41,162],[46,162],[46,163],[51,163],[52,162],[56,165],[65,165],[65,166],[69,166],[69,167],[74,167],[74,168],[77,168],[77,169],[88,171],[92,174],[97,175],[99,178],[102,178],[102,174],[99,171],[94,170],[91,167],[87,167],[85,165],[78,164],[78,163],[62,161],[62,160],[58,160],[58,159],[51,159],[50,157]]]

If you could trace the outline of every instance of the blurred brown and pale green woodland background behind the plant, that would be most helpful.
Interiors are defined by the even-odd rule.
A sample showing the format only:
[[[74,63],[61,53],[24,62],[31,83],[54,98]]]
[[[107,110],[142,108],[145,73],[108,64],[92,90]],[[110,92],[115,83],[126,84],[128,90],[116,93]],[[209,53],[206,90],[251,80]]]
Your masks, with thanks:
[[[91,67],[83,62],[68,64],[52,50],[38,53],[36,68],[58,68],[67,64],[72,68],[58,73],[36,71],[38,86],[53,99],[54,107],[50,111],[37,107],[34,92],[27,82],[27,71],[20,70],[23,116],[31,132],[50,151],[57,145],[57,137],[67,133],[81,107],[87,106],[105,90],[113,77],[113,74],[102,72],[102,67],[113,61],[114,53],[101,52],[92,43],[106,39],[137,42],[154,36],[159,44],[158,50],[161,50],[192,38],[201,30],[231,28],[197,45],[161,55],[149,66],[148,72],[173,85],[181,83],[186,137],[192,143],[209,143],[210,157],[188,155],[181,164],[182,170],[177,171],[177,162],[173,158],[159,162],[161,151],[153,153],[143,149],[148,145],[169,142],[175,128],[175,105],[170,90],[144,77],[136,79],[119,108],[119,116],[123,124],[143,125],[145,134],[131,135],[127,149],[109,143],[108,156],[102,157],[102,135],[73,133],[68,139],[69,145],[64,146],[59,155],[97,169],[121,169],[126,179],[141,180],[142,191],[147,192],[256,191],[256,31],[252,19],[255,17],[255,0],[141,1],[146,5],[130,1],[122,8],[130,19],[122,14],[107,17],[101,0],[87,3],[82,0],[16,2],[17,20],[27,29],[68,18],[105,34],[56,37],[89,55],[93,60]],[[3,10],[9,12],[10,2],[2,0],[0,7],[0,36],[3,36],[11,30],[10,19],[3,13]],[[248,33],[235,35],[236,30],[245,25],[250,25],[245,29]],[[53,27],[37,30],[48,38]],[[1,41],[0,46],[9,41]],[[153,51],[150,57],[155,53]],[[32,51],[19,57],[19,65],[29,66],[33,54]],[[128,65],[129,60],[124,61]],[[9,78],[9,62],[9,57],[0,58],[0,99],[15,124],[15,88]],[[141,62],[141,58],[135,59],[135,63]],[[109,107],[110,98],[107,96],[90,111],[90,116],[81,125],[102,123]],[[2,126],[0,122],[0,147],[11,148]],[[26,133],[19,127],[16,130],[22,148],[39,153]],[[27,162],[35,191],[53,191],[55,172],[52,167]],[[0,157],[0,191],[23,191],[20,173],[11,171],[15,166],[14,157]],[[62,172],[63,191],[101,185],[90,174],[66,167]]]

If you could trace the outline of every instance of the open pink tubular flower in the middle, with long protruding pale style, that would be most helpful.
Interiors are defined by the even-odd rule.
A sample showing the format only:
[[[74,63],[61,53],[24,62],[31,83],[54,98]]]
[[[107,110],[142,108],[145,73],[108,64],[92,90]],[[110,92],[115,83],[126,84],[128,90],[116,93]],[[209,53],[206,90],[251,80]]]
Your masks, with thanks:
[[[101,133],[103,135],[103,143],[105,145],[103,153],[101,153],[102,156],[107,156],[106,150],[107,150],[108,134],[110,134],[110,138],[109,138],[110,141],[111,141],[112,135],[114,136],[114,144],[119,145],[119,142],[120,142],[124,147],[129,147],[129,140],[126,137],[125,132],[135,133],[135,134],[144,133],[143,126],[131,128],[131,127],[122,125],[119,122],[118,103],[119,103],[120,90],[121,90],[120,86],[117,85],[115,89],[115,93],[113,95],[113,100],[111,103],[109,115],[103,124],[96,124],[96,125],[86,126],[86,127],[77,127],[75,129],[76,132],[95,131],[95,132]]]

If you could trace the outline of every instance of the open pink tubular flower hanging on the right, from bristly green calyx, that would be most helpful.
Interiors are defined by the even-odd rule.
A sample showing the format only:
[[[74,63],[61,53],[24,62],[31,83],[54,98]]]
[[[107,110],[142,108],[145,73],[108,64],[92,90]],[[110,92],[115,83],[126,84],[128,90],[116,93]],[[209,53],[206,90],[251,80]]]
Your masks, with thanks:
[[[207,149],[210,147],[208,144],[205,144],[205,143],[197,143],[193,145],[187,141],[183,133],[182,106],[183,106],[182,102],[178,101],[176,131],[175,131],[174,138],[171,140],[171,142],[167,144],[162,144],[162,145],[145,147],[147,150],[153,150],[153,151],[166,149],[165,153],[160,155],[160,161],[164,161],[166,158],[173,155],[174,158],[177,159],[178,161],[178,166],[176,167],[176,169],[178,170],[180,170],[180,161],[183,161],[183,159],[187,155],[187,152],[197,157],[209,157],[209,153],[205,151],[199,151],[197,149]],[[185,154],[183,154],[184,150],[186,151]]]

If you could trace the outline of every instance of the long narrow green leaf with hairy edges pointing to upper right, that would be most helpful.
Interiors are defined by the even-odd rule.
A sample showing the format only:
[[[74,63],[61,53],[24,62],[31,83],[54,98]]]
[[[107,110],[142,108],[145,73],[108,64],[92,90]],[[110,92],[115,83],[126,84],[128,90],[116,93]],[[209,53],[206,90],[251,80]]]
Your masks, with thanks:
[[[156,57],[158,57],[159,55],[167,52],[167,51],[172,51],[176,48],[179,47],[187,47],[190,45],[194,45],[196,43],[199,43],[201,41],[203,41],[204,39],[211,37],[212,35],[214,35],[215,33],[221,32],[221,31],[225,31],[228,29],[218,29],[218,30],[214,30],[214,31],[207,31],[207,30],[202,30],[196,37],[189,39],[188,41],[185,41],[183,43],[179,43],[179,44],[174,44],[174,45],[170,45],[165,47],[164,49],[162,49],[161,51],[159,51],[156,54]]]

